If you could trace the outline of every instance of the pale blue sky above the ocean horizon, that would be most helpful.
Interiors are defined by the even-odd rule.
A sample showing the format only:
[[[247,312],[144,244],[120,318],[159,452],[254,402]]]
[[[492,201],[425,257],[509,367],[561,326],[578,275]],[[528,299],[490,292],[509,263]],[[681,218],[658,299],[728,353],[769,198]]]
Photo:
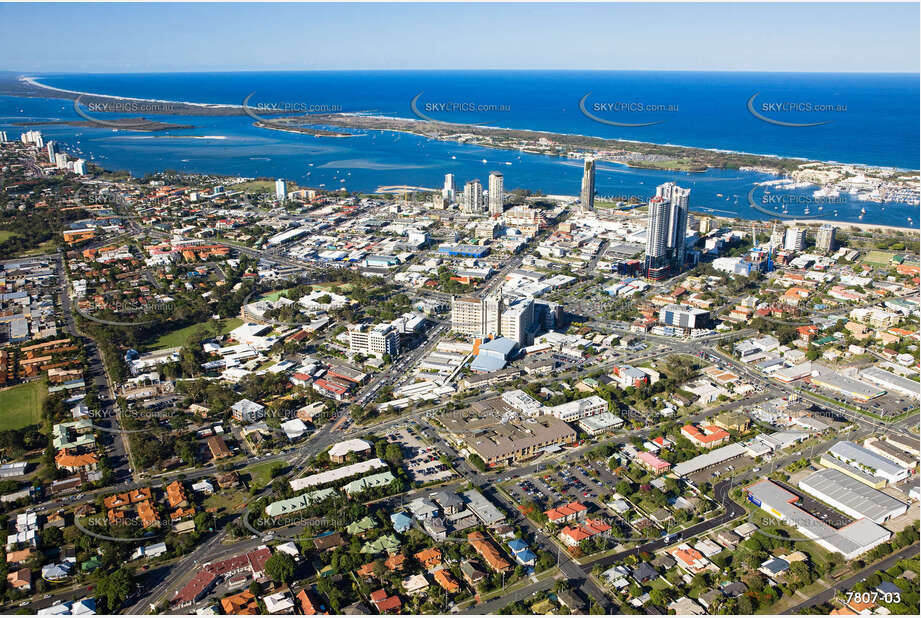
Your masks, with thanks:
[[[0,3],[0,70],[918,72],[919,5]]]

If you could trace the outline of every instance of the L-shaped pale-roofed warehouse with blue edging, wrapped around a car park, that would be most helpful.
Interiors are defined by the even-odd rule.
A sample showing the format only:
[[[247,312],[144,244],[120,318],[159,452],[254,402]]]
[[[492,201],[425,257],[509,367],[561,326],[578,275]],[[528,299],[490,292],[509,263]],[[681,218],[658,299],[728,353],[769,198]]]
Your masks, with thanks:
[[[749,502],[793,526],[828,551],[841,554],[845,560],[853,560],[892,536],[869,519],[858,519],[836,530],[797,506],[799,496],[768,480],[750,485],[746,491]]]

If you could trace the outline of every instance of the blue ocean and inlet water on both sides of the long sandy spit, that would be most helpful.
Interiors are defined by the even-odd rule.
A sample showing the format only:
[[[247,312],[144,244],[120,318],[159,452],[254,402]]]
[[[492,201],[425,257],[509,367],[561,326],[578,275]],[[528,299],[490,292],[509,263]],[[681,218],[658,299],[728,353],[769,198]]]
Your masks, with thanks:
[[[343,112],[578,133],[759,154],[918,169],[918,76],[901,74],[777,74],[696,72],[392,71],[215,74],[42,75],[43,83],[101,94],[253,107],[326,106]],[[786,123],[817,126],[781,126]],[[589,118],[580,109],[580,101]],[[790,111],[790,109],[794,111]],[[821,108],[821,109],[818,109]],[[24,119],[74,119],[60,100],[0,97],[0,127]],[[65,148],[114,169],[143,174],[161,169],[280,176],[300,184],[372,191],[381,185],[440,187],[501,170],[508,188],[576,194],[581,163],[412,135],[369,132],[320,138],[258,129],[249,117],[169,117],[195,125],[170,134],[131,134],[65,125],[40,127]],[[648,124],[623,127],[609,122]],[[485,162],[484,162],[485,160]],[[603,195],[648,197],[675,180],[692,188],[692,208],[762,219],[747,194],[770,177],[752,172],[657,172],[599,166]],[[760,191],[760,189],[759,189]],[[803,192],[811,195],[810,191]],[[792,195],[792,194],[791,194]],[[822,218],[911,227],[916,207],[846,199],[826,205]],[[800,214],[802,207],[791,208]],[[815,208],[812,215],[815,216]]]

